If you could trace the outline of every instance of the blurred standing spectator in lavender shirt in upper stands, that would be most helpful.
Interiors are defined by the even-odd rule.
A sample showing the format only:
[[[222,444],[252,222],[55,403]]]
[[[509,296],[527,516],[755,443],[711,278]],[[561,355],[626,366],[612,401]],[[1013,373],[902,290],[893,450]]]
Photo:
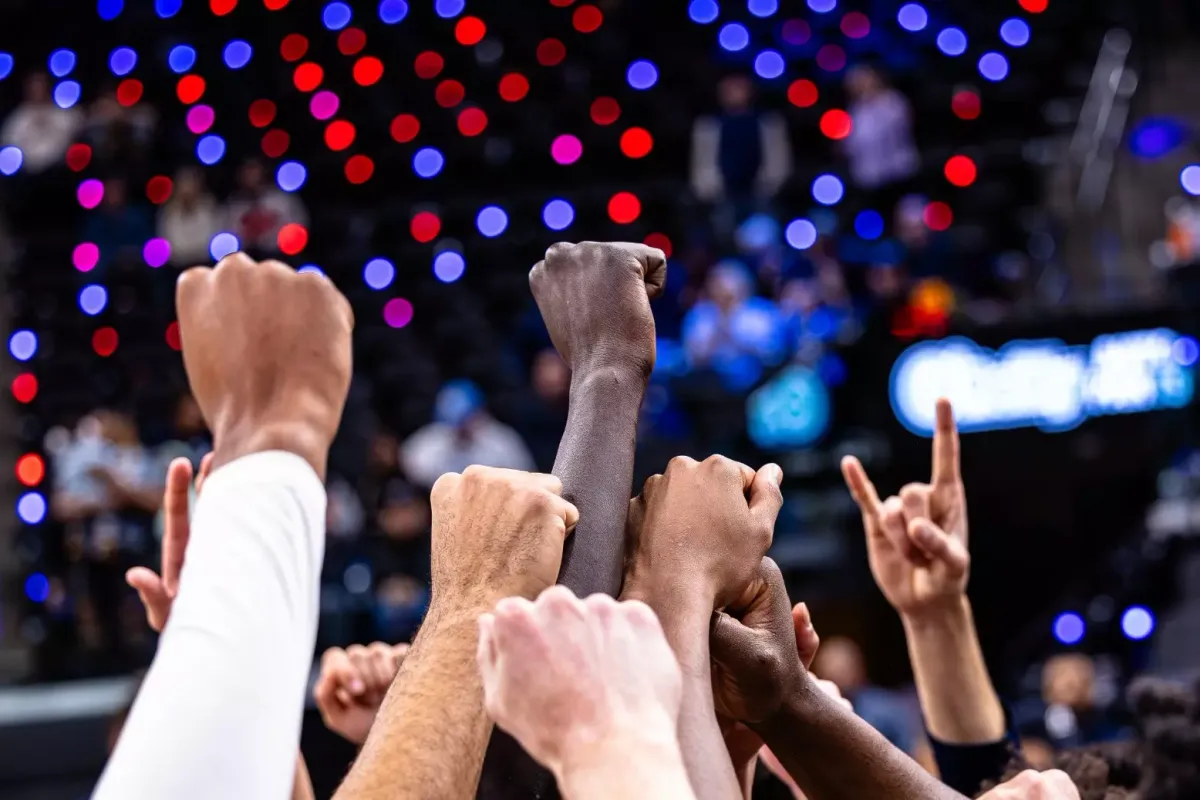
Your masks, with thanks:
[[[854,184],[868,192],[866,207],[890,218],[900,198],[912,191],[920,169],[913,144],[908,101],[870,66],[846,74],[850,96],[850,136],[842,143]]]

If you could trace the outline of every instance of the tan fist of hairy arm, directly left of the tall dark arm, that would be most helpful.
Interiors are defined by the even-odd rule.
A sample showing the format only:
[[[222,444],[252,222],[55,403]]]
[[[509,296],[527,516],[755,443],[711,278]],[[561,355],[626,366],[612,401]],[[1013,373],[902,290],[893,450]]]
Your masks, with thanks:
[[[433,608],[478,613],[503,597],[533,600],[558,579],[580,512],[553,475],[468,467],[433,485]],[[474,616],[472,616],[474,619]]]

